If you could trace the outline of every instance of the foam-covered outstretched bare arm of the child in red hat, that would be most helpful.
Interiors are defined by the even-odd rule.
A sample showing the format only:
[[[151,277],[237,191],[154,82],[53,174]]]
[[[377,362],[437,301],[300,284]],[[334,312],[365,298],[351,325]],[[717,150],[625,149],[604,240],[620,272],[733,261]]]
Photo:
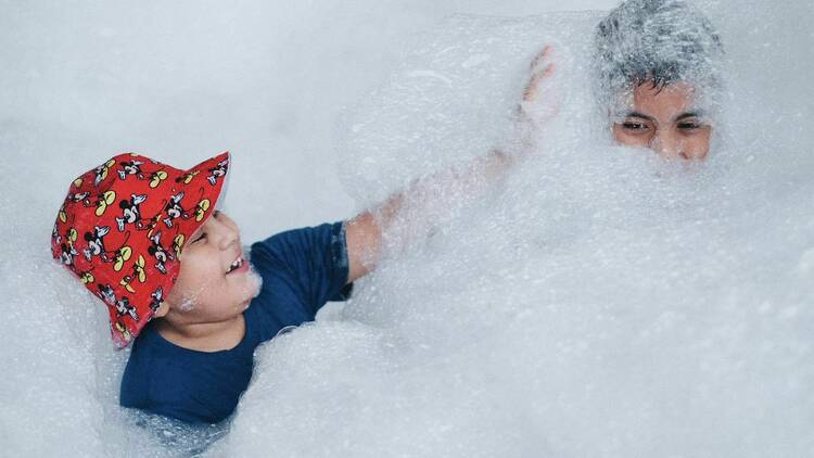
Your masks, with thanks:
[[[546,47],[532,62],[532,77],[523,92],[520,117],[525,132],[521,133],[523,148],[513,153],[493,150],[479,157],[462,170],[444,170],[416,181],[406,190],[393,195],[376,208],[368,209],[351,219],[346,225],[347,256],[349,264],[348,282],[364,277],[376,268],[379,260],[383,233],[399,219],[418,219],[422,225],[421,236],[432,230],[435,215],[442,215],[444,207],[456,199],[471,199],[486,191],[501,178],[529,151],[534,149],[536,129],[556,115],[557,106],[547,89],[555,65],[550,62],[551,49]],[[440,185],[450,182],[441,189]],[[416,233],[402,238],[406,245]]]

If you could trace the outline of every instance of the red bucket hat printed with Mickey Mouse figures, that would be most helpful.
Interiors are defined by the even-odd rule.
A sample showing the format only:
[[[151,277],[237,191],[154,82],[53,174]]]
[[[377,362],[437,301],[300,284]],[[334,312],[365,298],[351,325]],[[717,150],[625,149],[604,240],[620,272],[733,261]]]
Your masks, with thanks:
[[[126,153],[71,183],[51,253],[107,305],[117,347],[175,284],[183,244],[215,209],[228,169],[229,152],[189,170]]]

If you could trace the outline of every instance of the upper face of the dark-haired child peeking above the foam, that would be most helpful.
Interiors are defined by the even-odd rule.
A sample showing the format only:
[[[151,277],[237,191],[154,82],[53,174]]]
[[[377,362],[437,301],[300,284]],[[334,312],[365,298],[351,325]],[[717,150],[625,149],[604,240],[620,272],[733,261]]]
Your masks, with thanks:
[[[664,158],[703,160],[712,126],[695,107],[695,89],[678,82],[662,89],[650,81],[634,89],[632,106],[612,125],[620,144],[644,147]]]

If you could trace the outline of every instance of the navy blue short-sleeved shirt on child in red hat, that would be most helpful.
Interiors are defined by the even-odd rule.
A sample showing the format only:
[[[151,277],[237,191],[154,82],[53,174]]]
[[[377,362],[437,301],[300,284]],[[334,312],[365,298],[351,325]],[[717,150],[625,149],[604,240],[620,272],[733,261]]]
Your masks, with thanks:
[[[326,302],[349,294],[343,222],[282,232],[254,243],[250,253],[263,288],[243,311],[243,340],[231,349],[199,352],[170,343],[148,325],[125,368],[123,406],[187,422],[219,422],[249,386],[257,345],[285,327],[314,320]]]

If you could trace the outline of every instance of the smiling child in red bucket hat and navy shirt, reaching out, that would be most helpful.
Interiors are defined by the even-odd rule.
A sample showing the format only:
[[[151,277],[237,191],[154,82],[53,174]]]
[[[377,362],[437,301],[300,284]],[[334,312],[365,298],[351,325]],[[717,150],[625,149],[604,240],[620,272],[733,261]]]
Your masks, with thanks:
[[[549,58],[546,50],[535,60],[523,106],[545,97]],[[456,174],[456,188],[481,191],[518,158],[495,151]],[[59,211],[54,258],[107,305],[115,344],[133,344],[122,380],[125,407],[187,422],[229,417],[257,345],[347,297],[376,267],[382,232],[405,217],[407,198],[427,198],[419,182],[347,221],[258,241],[250,264],[238,226],[215,209],[229,160],[222,153],[182,170],[120,154],[74,180]]]

